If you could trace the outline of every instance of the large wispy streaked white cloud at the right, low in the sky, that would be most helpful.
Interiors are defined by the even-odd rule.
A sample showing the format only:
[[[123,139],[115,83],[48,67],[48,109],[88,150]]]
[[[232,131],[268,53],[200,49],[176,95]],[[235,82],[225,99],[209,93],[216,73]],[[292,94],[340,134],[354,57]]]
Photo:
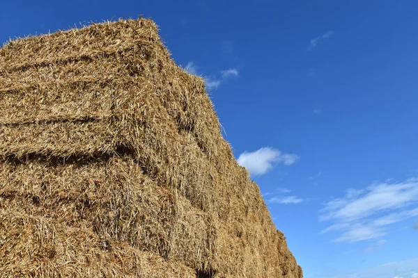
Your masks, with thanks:
[[[336,241],[347,242],[379,238],[387,234],[389,224],[417,216],[417,205],[418,179],[350,189],[344,197],[325,204],[320,221],[333,224],[321,234],[338,231]]]

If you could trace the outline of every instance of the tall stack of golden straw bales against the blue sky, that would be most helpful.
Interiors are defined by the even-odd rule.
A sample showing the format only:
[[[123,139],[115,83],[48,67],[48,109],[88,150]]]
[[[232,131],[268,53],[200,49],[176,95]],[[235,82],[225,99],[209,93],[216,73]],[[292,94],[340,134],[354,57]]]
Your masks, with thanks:
[[[302,277],[148,19],[0,49],[0,277]]]

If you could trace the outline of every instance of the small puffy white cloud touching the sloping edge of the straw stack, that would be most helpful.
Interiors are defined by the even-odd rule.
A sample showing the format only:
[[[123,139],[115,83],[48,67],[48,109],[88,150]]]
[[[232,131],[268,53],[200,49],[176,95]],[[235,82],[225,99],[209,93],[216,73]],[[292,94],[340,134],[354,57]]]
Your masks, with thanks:
[[[284,154],[278,149],[262,147],[255,152],[243,152],[238,157],[238,164],[246,167],[250,174],[261,175],[273,167],[273,163],[291,165],[297,161],[296,154]]]

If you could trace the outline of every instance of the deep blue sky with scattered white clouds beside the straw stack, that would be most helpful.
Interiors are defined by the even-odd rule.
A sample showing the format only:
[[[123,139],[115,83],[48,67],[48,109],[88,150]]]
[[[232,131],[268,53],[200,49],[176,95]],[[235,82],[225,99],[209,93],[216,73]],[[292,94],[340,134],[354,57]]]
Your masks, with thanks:
[[[418,277],[417,1],[2,1],[0,42],[151,17],[307,278]]]

